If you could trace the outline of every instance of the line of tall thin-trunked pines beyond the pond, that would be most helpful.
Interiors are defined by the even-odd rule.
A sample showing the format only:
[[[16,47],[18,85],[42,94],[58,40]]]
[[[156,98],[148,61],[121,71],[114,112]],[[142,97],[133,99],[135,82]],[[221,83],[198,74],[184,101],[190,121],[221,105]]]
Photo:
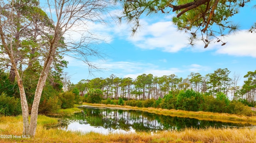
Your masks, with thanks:
[[[217,69],[213,73],[202,76],[200,73],[190,73],[188,77],[182,78],[175,74],[163,75],[161,77],[152,74],[138,75],[136,79],[130,77],[120,78],[110,75],[107,78],[82,79],[77,84],[72,85],[84,96],[89,89],[101,89],[103,98],[107,99],[159,99],[170,91],[179,93],[181,90],[193,89],[204,95],[216,95],[224,93],[230,100],[244,100],[250,106],[255,106],[256,101],[256,71],[248,71],[244,85],[238,86],[241,78],[234,73],[230,76],[227,68]]]

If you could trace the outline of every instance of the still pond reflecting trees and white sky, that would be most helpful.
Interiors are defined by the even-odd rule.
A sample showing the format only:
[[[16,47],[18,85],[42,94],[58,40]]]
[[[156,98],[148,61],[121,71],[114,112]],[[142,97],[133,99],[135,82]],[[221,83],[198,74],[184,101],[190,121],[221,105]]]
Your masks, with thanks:
[[[62,116],[62,129],[96,133],[170,131],[184,128],[255,127],[249,123],[224,123],[194,118],[172,117],[138,110],[80,107],[82,112]]]

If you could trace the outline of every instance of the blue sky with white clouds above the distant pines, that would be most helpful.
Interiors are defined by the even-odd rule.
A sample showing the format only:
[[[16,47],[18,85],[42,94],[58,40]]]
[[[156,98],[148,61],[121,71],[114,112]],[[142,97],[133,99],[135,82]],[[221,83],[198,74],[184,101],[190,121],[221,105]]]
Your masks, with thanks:
[[[255,1],[247,3],[239,14],[232,17],[231,20],[240,25],[240,30],[222,38],[226,45],[212,42],[207,48],[202,42],[190,46],[190,35],[177,30],[171,22],[175,15],[171,14],[142,17],[142,27],[135,36],[131,36],[130,24],[126,22],[119,24],[110,20],[108,25],[91,24],[90,30],[106,39],[106,43],[98,45],[104,53],[103,58],[89,59],[100,70],[89,72],[84,62],[65,56],[69,64],[64,72],[76,84],[82,79],[106,78],[111,74],[133,79],[143,73],[158,77],[175,74],[186,78],[191,72],[204,76],[218,68],[228,68],[230,77],[234,73],[241,76],[239,85],[242,85],[243,76],[256,70],[256,33],[248,32],[256,22],[253,5],[256,5]],[[114,12],[118,13],[118,10]]]

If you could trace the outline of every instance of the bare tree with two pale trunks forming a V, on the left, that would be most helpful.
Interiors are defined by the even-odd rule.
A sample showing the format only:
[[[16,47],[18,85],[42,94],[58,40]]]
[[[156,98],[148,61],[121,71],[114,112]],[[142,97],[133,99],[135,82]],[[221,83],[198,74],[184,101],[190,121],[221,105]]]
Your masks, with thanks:
[[[42,90],[53,66],[52,63],[58,60],[58,55],[67,54],[84,61],[90,69],[96,68],[88,58],[90,56],[100,57],[101,53],[95,49],[95,46],[101,42],[99,40],[104,41],[104,39],[89,32],[90,24],[104,22],[109,4],[104,0],[47,0],[44,6],[35,0],[1,2],[1,51],[8,55],[18,82],[24,135],[34,136],[36,133]],[[81,27],[84,29],[80,31],[79,40],[68,38],[66,34]],[[32,41],[27,46],[31,47],[36,44],[34,48],[40,54],[38,59],[30,58],[29,60],[40,60],[42,65],[34,94],[30,122],[26,93],[18,70],[23,64],[29,65],[28,60],[24,59],[32,53],[32,48],[29,52],[24,51],[24,46],[22,46],[24,40]]]

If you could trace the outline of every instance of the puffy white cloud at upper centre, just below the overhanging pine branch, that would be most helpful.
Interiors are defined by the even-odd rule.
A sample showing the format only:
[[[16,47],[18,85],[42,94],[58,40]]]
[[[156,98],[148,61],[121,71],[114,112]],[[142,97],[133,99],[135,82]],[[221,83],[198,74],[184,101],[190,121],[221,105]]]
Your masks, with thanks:
[[[164,52],[178,52],[187,48],[187,38],[170,21],[149,24],[142,21],[142,28],[127,40],[142,49],[160,49]]]

